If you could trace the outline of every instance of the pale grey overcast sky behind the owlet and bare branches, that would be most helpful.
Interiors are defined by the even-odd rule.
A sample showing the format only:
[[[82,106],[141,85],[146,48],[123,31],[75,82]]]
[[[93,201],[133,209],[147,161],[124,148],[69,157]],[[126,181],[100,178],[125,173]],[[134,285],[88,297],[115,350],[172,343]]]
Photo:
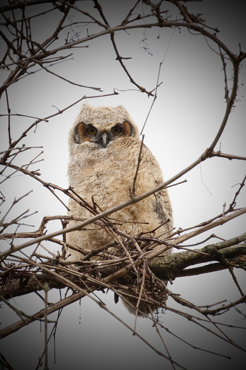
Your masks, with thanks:
[[[100,0],[110,26],[120,24],[134,3],[135,1],[132,0]],[[93,16],[97,16],[97,10],[93,9],[91,1],[83,1],[83,3],[79,1],[78,5]],[[37,6],[35,11],[38,7],[40,11],[44,10],[42,5]],[[169,2],[163,1],[163,9],[170,9],[176,16],[177,11]],[[210,27],[218,27],[220,30],[218,38],[233,53],[239,53],[239,43],[241,49],[246,50],[244,19],[246,9],[245,5],[242,6],[242,1],[204,0],[188,3],[188,9],[193,13],[202,13],[202,17]],[[31,10],[27,9],[28,11]],[[56,27],[60,13],[59,11],[56,14],[53,13],[39,17],[33,22],[32,36],[37,42],[44,41]],[[135,13],[142,13],[142,4],[139,5]],[[76,11],[72,14],[74,21],[78,15]],[[80,32],[80,38],[87,35],[86,28],[89,28],[89,33],[99,31],[99,27],[93,24],[90,27],[88,25],[73,27],[74,30]],[[72,30],[69,32],[72,36]],[[62,43],[66,36],[67,30],[64,31],[63,38],[60,37],[52,47],[55,48]],[[141,42],[143,39],[146,39],[145,44]],[[115,41],[119,54],[122,57],[132,58],[124,60],[129,73],[139,85],[148,91],[156,86],[159,64],[163,61],[166,53],[159,77],[159,82],[162,84],[157,90],[157,100],[150,112],[143,133],[145,134],[145,144],[158,159],[164,179],[167,180],[194,162],[209,147],[221,125],[226,108],[224,73],[221,58],[212,48],[215,48],[216,51],[218,49],[211,41],[208,41],[211,46],[209,48],[203,36],[195,36],[186,29],[181,29],[179,32],[177,28],[173,32],[172,28],[161,30],[156,27],[146,29],[145,34],[143,28],[130,30],[128,33],[119,31],[115,34]],[[103,93],[69,84],[52,74],[39,71],[23,78],[9,88],[8,99],[11,113],[46,117],[54,114],[57,108],[62,110],[84,95],[110,94],[116,88],[127,91],[117,90],[118,95],[87,99],[87,101],[92,105],[123,104],[141,129],[153,98],[148,98],[146,94],[136,91],[136,87],[130,83],[119,62],[115,60],[116,55],[109,35],[91,40],[86,45],[89,47],[60,53],[59,55],[70,53],[73,55],[67,61],[53,65],[50,70],[77,84],[100,87]],[[148,48],[147,51],[143,46]],[[5,50],[3,40],[1,40],[0,49]],[[1,71],[1,82],[7,78],[7,75],[7,71]],[[229,64],[228,78],[231,78],[231,75],[232,65]],[[238,97],[240,101],[236,102],[215,151],[219,150],[221,145],[223,153],[246,155],[245,76],[244,63],[239,75]],[[229,81],[231,87],[230,84],[231,81]],[[133,90],[128,91],[129,89]],[[63,188],[68,186],[67,133],[81,104],[80,102],[74,105],[62,115],[49,120],[48,123],[39,123],[35,132],[32,130],[28,137],[21,141],[21,144],[24,143],[27,146],[43,147],[42,149],[32,149],[32,153],[22,154],[23,162],[21,164],[28,164],[41,150],[44,150],[44,154],[40,156],[40,159],[43,158],[44,161],[34,164],[30,168],[31,170],[39,168],[44,181]],[[0,101],[0,108],[2,113],[7,113],[5,95]],[[1,122],[2,151],[8,146],[7,119],[1,117]],[[19,137],[32,122],[31,118],[13,117],[11,121],[13,139]],[[238,185],[233,185],[240,184],[245,173],[245,161],[212,158],[202,162],[200,167],[197,166],[183,176],[179,181],[187,179],[187,182],[170,189],[174,226],[187,228],[219,215],[223,210],[224,202],[227,206],[232,202],[235,192],[238,190]],[[9,208],[14,197],[18,198],[30,190],[33,192],[15,206],[9,214],[9,219],[27,209],[30,209],[30,213],[38,211],[27,222],[34,225],[31,230],[34,231],[39,227],[44,216],[66,214],[66,208],[47,189],[32,179],[26,179],[25,176],[18,176],[3,183],[1,191],[8,196],[3,205],[2,213],[4,214],[4,210]],[[245,189],[243,190],[244,192],[242,191],[237,198],[237,208],[245,206]],[[59,196],[64,202],[67,202],[65,196],[60,194]],[[224,239],[232,238],[245,232],[245,225],[246,217],[244,215],[239,220],[234,219],[231,223],[213,229],[188,243],[205,239],[211,233]],[[59,222],[50,222],[48,232],[59,228],[61,228]],[[27,229],[29,231],[29,228],[23,226],[21,231],[27,231]],[[218,239],[212,239],[212,242],[217,241]],[[20,243],[22,240],[16,241],[15,245]],[[6,243],[1,242],[0,245],[1,250],[8,248]],[[50,249],[53,248],[54,252],[58,248],[50,243],[44,243],[44,245]],[[33,247],[26,253],[32,250]],[[235,271],[235,274],[245,292],[246,284],[243,271]],[[232,302],[240,297],[228,271],[211,273],[206,276],[177,278],[169,288],[172,292],[180,293],[184,299],[190,300],[198,306],[224,299]],[[64,294],[63,291],[62,297]],[[114,311],[131,327],[134,326],[134,316],[124,309],[121,302],[118,305],[114,304],[111,292],[108,292],[107,295],[101,292],[96,292],[96,294],[110,310]],[[48,300],[49,302],[59,300],[59,292],[50,292]],[[15,298],[11,300],[11,304],[27,314],[34,314],[43,307],[40,298],[34,293],[27,297]],[[167,304],[180,309],[180,306],[171,298]],[[239,309],[243,310],[242,305],[239,306]],[[183,310],[185,311],[184,308]],[[2,322],[1,328],[18,320],[16,314],[7,310],[5,306],[1,311],[3,311],[3,319],[0,320]],[[56,320],[57,313],[51,316],[50,319]],[[242,321],[236,322],[242,319],[236,310],[219,316],[217,319],[217,321],[230,322],[234,325],[242,324]],[[178,315],[167,312],[161,316],[161,320],[164,326],[193,345],[232,356],[232,360],[229,361],[224,357],[195,351],[163,330],[162,334],[170,355],[188,369],[199,368],[203,370],[208,366],[212,370],[216,368],[236,369],[240,363],[238,361],[243,359],[243,356],[245,359],[245,353],[242,351],[229,346],[207,331],[198,329],[197,326]],[[37,366],[38,357],[41,356],[44,347],[44,330],[42,329],[42,332],[39,333],[39,329],[38,322],[32,323],[2,340],[1,353],[6,356],[14,369],[22,369],[20,363],[25,364],[27,370],[35,369]],[[212,325],[211,329],[214,330]],[[163,344],[149,320],[139,319],[137,330],[153,346],[166,354]],[[235,332],[227,331],[228,335],[241,345],[243,344],[243,332],[245,331],[242,329]],[[13,350],[16,352],[15,358],[8,354],[11,353],[8,348],[11,348],[12,353]],[[52,342],[49,346],[50,368],[53,364],[53,353]],[[129,365],[130,360],[132,361],[131,366]],[[133,337],[128,329],[122,327],[117,320],[103,312],[89,298],[84,298],[81,305],[76,302],[63,309],[56,332],[56,364],[53,369],[80,369],[82,367],[96,369],[96,367],[103,367],[121,370],[125,367],[134,369],[136,366],[143,370],[149,369],[150,366],[172,369],[168,361],[154,353],[141,340]]]

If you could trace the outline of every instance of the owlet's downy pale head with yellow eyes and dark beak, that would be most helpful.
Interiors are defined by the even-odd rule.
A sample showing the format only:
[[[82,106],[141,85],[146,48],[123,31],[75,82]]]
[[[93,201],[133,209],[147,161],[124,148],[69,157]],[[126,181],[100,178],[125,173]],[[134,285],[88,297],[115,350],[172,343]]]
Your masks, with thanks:
[[[69,144],[92,142],[106,148],[112,140],[124,137],[139,138],[139,131],[123,105],[92,107],[82,105],[69,135]]]

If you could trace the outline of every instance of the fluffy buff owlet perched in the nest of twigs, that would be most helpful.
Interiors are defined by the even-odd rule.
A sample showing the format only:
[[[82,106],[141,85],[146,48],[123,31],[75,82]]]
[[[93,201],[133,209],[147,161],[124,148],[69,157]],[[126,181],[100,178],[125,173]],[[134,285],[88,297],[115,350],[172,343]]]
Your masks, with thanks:
[[[83,104],[69,132],[69,185],[91,205],[93,197],[103,211],[128,200],[140,146],[138,128],[122,105],[92,107],[87,103]],[[143,145],[135,195],[162,182],[162,171],[157,160]],[[72,199],[69,200],[69,208],[69,214],[75,217],[92,216]],[[121,220],[122,225],[117,225],[117,228],[125,233],[132,233],[135,225],[136,233],[148,232],[170,219],[170,222],[157,229],[155,237],[168,231],[173,222],[166,189],[113,213],[111,217]],[[77,222],[70,221],[69,226]],[[112,236],[99,225],[93,225],[93,230],[67,234],[68,243],[89,250],[106,245],[112,240]],[[82,256],[72,249],[69,249],[69,253],[72,259]]]

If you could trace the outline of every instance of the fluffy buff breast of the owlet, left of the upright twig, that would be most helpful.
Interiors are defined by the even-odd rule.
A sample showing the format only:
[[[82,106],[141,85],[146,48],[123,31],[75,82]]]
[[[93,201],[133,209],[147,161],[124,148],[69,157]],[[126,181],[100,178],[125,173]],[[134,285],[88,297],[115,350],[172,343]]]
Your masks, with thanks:
[[[70,186],[87,201],[92,195],[103,203],[106,199],[114,199],[113,203],[128,199],[139,148],[139,140],[134,138],[112,141],[107,148],[76,145],[69,162]]]

